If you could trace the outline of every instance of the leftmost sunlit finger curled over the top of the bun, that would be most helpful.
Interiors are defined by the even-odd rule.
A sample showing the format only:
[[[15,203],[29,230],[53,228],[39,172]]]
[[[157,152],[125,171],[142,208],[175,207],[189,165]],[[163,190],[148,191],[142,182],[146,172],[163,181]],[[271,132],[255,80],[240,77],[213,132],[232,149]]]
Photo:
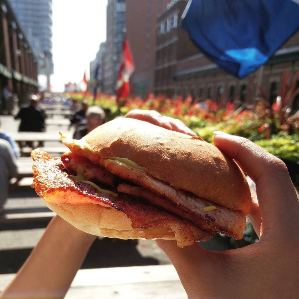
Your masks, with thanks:
[[[164,117],[157,111],[154,110],[132,110],[128,112],[125,117],[139,119],[140,121],[147,121],[153,125],[171,130],[171,124],[164,119]]]

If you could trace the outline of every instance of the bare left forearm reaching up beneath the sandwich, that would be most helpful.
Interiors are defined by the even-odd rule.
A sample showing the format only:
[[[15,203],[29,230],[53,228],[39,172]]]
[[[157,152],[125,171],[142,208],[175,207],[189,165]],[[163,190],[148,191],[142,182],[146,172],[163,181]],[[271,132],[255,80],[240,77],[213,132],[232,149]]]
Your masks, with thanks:
[[[95,238],[55,216],[0,299],[64,298]]]

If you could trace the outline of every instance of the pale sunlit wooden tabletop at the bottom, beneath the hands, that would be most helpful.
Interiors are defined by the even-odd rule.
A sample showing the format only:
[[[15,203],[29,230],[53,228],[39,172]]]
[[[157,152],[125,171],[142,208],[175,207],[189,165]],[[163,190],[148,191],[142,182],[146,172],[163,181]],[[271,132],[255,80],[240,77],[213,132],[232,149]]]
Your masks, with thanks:
[[[0,291],[14,275],[0,275]],[[79,270],[65,297],[75,298],[187,299],[187,295],[173,265],[157,265]]]

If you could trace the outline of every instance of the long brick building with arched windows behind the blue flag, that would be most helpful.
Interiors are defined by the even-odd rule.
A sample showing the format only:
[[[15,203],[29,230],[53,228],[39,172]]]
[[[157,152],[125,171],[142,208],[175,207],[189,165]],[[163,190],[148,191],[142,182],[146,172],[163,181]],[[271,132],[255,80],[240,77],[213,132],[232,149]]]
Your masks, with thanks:
[[[157,19],[155,94],[192,95],[218,102],[222,96],[229,101],[251,103],[259,82],[270,102],[277,97],[284,70],[299,70],[299,32],[259,70],[238,79],[219,69],[192,43],[178,26],[187,5],[184,0],[172,1]],[[298,82],[299,86],[299,82]]]

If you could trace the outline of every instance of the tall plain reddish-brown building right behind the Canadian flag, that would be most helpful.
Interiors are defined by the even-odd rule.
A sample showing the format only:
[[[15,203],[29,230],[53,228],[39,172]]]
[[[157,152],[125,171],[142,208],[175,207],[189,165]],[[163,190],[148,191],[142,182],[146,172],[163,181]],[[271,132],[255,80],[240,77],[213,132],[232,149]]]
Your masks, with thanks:
[[[157,15],[166,9],[169,0],[127,0],[126,29],[135,63],[131,75],[131,93],[145,97],[154,92]],[[138,12],[138,13],[136,13]]]

